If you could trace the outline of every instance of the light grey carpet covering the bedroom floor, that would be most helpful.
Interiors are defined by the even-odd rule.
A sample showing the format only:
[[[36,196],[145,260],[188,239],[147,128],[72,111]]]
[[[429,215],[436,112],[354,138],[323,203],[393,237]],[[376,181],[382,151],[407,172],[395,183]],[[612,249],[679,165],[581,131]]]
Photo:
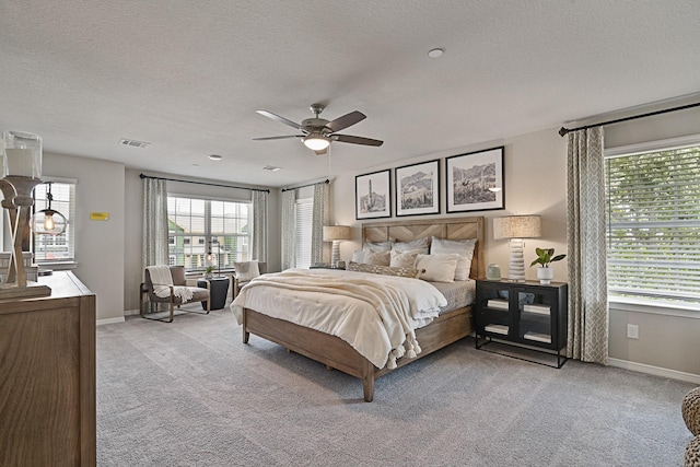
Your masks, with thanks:
[[[376,381],[250,337],[228,308],[97,328],[101,466],[680,466],[692,385],[467,338]]]

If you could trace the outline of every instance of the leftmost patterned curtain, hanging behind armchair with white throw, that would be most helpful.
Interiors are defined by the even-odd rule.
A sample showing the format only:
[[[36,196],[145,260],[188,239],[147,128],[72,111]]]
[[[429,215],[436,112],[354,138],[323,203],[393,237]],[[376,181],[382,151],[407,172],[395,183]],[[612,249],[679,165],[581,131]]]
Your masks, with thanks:
[[[167,188],[165,180],[143,178],[143,252],[147,266],[167,265]]]

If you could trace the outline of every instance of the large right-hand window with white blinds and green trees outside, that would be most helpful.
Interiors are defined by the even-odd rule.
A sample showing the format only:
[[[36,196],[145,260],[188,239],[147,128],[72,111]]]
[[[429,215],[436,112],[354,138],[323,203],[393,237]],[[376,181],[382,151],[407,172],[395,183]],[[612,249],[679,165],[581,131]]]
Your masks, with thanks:
[[[610,297],[697,310],[700,138],[612,150],[606,156]]]

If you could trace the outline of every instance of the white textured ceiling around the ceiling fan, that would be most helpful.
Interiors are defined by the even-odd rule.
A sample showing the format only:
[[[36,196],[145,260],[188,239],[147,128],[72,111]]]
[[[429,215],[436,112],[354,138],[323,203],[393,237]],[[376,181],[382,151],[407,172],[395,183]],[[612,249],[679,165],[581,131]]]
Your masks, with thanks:
[[[698,0],[0,0],[0,130],[279,187],[697,93],[698,24]],[[257,108],[301,122],[316,102],[384,145],[335,142],[329,167],[252,140],[294,133]]]

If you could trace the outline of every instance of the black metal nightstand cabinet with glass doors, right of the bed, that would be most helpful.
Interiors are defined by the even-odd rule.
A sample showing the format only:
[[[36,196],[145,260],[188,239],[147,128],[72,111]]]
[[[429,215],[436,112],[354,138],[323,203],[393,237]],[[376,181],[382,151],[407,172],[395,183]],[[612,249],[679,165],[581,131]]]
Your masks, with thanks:
[[[493,339],[557,352],[557,367],[567,361],[568,285],[536,281],[477,280],[476,347]],[[549,352],[551,353],[551,352]]]

